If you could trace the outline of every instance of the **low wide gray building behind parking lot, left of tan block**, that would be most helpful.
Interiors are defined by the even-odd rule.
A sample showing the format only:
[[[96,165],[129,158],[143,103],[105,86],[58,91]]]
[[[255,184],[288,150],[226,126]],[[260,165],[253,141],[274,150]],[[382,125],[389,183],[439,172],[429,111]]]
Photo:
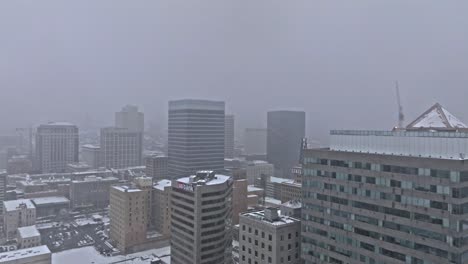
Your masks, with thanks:
[[[71,207],[105,208],[109,205],[109,192],[113,184],[118,183],[115,177],[101,178],[88,176],[84,180],[72,181],[70,184]]]

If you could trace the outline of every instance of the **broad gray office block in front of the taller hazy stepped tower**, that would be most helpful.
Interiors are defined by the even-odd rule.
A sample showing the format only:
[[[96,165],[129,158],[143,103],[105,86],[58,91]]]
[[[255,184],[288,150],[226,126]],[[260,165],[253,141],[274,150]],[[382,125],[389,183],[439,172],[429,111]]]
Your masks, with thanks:
[[[143,146],[142,133],[127,128],[101,129],[101,162],[106,168],[120,169],[140,166]]]

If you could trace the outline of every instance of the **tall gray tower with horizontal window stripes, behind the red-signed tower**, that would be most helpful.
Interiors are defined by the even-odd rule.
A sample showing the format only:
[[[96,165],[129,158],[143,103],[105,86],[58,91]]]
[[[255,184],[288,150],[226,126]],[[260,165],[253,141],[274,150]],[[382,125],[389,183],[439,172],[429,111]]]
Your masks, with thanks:
[[[224,169],[224,102],[169,102],[169,177]]]

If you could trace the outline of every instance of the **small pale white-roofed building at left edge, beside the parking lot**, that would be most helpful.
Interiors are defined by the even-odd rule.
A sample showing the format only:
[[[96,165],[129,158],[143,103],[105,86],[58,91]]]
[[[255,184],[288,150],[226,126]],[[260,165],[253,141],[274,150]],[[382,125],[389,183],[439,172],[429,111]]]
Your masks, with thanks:
[[[3,230],[8,240],[15,239],[18,227],[36,224],[36,207],[28,199],[4,201]]]

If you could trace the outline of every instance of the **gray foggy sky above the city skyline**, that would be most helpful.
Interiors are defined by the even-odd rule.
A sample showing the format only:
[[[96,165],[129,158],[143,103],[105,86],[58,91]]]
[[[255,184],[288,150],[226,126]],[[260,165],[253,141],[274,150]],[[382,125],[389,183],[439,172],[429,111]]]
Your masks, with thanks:
[[[468,122],[468,1],[0,2],[0,131],[48,120],[112,123],[139,105],[222,99],[238,125],[303,109],[308,135],[390,129],[436,101]]]

